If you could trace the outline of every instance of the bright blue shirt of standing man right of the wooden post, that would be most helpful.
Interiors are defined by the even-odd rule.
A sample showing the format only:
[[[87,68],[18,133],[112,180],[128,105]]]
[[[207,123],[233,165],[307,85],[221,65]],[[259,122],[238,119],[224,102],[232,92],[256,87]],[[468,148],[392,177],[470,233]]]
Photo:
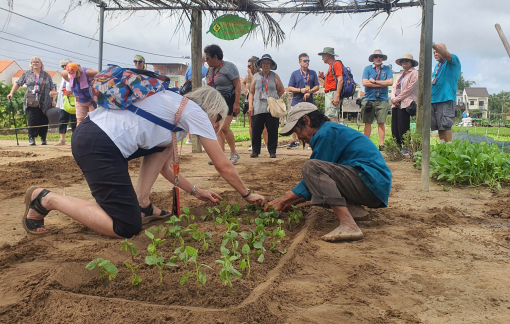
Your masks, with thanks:
[[[439,68],[439,63],[432,73],[432,80]],[[457,55],[452,54],[452,61],[445,61],[441,70],[437,74],[436,84],[432,85],[432,103],[445,102],[452,100],[457,102],[457,84],[460,77],[460,60]]]

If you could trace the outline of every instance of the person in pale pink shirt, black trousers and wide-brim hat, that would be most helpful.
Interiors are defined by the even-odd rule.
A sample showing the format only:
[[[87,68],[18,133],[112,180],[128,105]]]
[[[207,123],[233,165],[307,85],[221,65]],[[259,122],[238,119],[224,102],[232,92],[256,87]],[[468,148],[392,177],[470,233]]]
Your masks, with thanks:
[[[418,71],[414,69],[418,62],[411,54],[404,54],[395,61],[403,70],[395,79],[391,91],[391,133],[402,149],[404,155],[409,154],[403,146],[404,134],[409,130],[413,107],[418,101]],[[416,111],[414,112],[416,114]],[[414,116],[414,115],[413,115]]]

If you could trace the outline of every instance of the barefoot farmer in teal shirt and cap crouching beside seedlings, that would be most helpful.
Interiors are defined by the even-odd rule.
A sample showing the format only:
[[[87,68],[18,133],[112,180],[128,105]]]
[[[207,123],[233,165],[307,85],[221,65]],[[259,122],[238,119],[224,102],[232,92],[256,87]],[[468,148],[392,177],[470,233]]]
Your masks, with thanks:
[[[353,216],[364,216],[360,205],[370,208],[388,206],[391,171],[372,141],[352,128],[330,122],[308,102],[295,105],[280,134],[296,132],[312,148],[310,160],[303,164],[303,180],[292,191],[271,201],[276,210],[310,200],[313,205],[330,206],[340,220],[325,241],[352,241],[363,238]],[[266,209],[268,208],[266,207]]]

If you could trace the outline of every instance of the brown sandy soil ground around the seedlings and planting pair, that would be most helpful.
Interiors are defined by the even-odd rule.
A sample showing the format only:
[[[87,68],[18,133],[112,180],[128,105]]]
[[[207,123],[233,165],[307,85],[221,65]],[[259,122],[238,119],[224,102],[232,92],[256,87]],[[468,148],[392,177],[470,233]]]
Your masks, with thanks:
[[[437,183],[420,190],[420,173],[409,162],[389,162],[393,172],[390,207],[372,209],[359,221],[363,241],[332,244],[319,237],[338,225],[331,211],[300,206],[306,224],[287,231],[285,255],[252,260],[250,277],[234,280],[234,290],[219,281],[219,252],[204,254],[208,282],[180,286],[181,270],[157,272],[141,266],[143,282],[130,285],[130,262],[120,240],[93,233],[63,214],[47,218],[49,233],[27,236],[20,225],[23,193],[43,185],[57,193],[93,200],[69,147],[16,147],[0,142],[0,322],[2,323],[508,323],[510,321],[510,192]],[[307,150],[279,150],[250,159],[241,149],[236,166],[248,187],[272,198],[300,180]],[[183,174],[201,187],[235,203],[232,192],[205,154],[185,147]],[[131,164],[137,181],[137,161]],[[170,208],[171,187],[161,177],[152,199]],[[183,205],[204,207],[183,195]],[[254,217],[252,215],[252,217]],[[283,216],[285,219],[285,215]],[[163,221],[145,227],[162,225]],[[220,225],[225,229],[224,225]],[[247,225],[243,225],[247,226]],[[211,223],[200,230],[215,232]],[[218,248],[220,238],[215,239]],[[243,239],[240,239],[243,242]],[[133,242],[148,244],[144,233]],[[171,242],[171,241],[170,241]],[[172,244],[170,242],[169,245]],[[189,244],[192,241],[187,239]],[[187,243],[187,244],[188,244]],[[198,247],[198,245],[196,246]],[[173,248],[173,247],[172,247]],[[168,248],[168,251],[171,251]],[[167,250],[165,250],[167,251]],[[170,254],[170,252],[168,252]],[[144,254],[142,254],[144,256]],[[134,263],[143,263],[140,256]],[[120,269],[114,282],[85,270],[98,257]],[[270,260],[269,260],[270,259]],[[182,270],[184,271],[184,270]]]

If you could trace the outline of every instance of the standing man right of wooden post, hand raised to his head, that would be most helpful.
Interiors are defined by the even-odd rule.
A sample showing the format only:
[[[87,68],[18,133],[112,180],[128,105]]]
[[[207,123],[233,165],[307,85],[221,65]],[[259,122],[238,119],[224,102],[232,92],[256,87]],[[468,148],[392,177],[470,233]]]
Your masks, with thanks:
[[[430,128],[438,131],[441,142],[451,142],[461,64],[457,55],[448,52],[445,44],[434,44],[432,48],[438,63],[432,73]]]

